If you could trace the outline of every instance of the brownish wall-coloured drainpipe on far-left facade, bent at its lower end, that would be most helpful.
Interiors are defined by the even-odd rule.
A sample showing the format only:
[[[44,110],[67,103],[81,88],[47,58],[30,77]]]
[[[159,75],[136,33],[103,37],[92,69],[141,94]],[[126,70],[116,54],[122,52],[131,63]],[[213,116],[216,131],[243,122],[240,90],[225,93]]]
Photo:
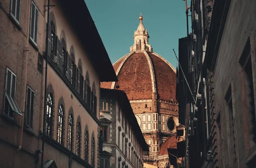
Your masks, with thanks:
[[[22,137],[23,137],[23,127],[24,127],[24,117],[25,117],[25,108],[26,108],[26,83],[27,83],[27,71],[28,71],[28,57],[29,57],[29,24],[30,24],[30,3],[31,0],[28,0],[28,22],[27,22],[27,39],[26,39],[26,50],[25,53],[25,69],[24,69],[24,86],[23,86],[23,103],[22,103],[22,119],[21,119],[21,132],[20,132],[20,145],[17,149],[17,152],[20,151],[22,146]]]

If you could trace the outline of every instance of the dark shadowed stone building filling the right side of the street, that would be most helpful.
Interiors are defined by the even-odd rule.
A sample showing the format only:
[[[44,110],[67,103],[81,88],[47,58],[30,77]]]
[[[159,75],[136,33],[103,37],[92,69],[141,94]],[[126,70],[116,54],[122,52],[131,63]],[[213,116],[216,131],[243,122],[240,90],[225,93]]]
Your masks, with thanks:
[[[190,123],[187,166],[254,168],[256,2],[192,0],[192,4],[188,60],[198,64],[190,64],[196,103],[189,116],[183,115]]]

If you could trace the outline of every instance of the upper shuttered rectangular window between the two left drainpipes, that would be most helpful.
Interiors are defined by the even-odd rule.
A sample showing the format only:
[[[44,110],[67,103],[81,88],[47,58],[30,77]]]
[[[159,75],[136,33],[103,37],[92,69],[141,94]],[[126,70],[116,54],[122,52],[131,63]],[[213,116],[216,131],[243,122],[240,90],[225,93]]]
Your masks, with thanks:
[[[31,3],[31,12],[30,12],[30,40],[37,46],[37,35],[38,35],[38,9],[35,6],[35,3]]]

